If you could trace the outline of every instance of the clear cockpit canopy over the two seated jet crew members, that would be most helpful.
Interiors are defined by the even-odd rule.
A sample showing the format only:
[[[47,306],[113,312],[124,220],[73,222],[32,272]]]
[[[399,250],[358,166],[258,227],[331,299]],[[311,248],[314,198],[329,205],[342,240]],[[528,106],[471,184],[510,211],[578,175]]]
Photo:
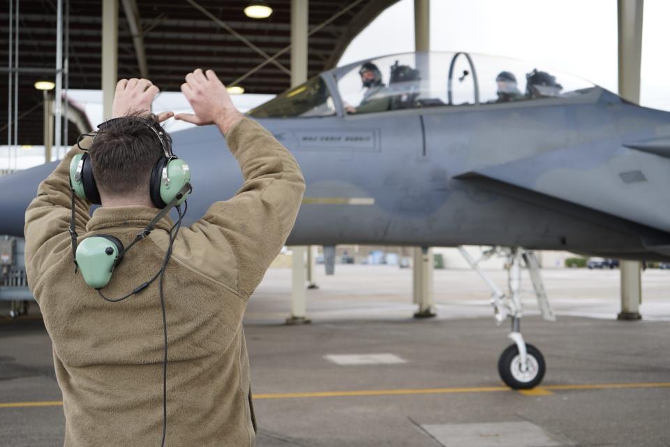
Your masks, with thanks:
[[[373,77],[375,82],[368,79]],[[326,71],[251,110],[249,115],[327,117],[542,99],[559,101],[587,94],[595,87],[544,64],[518,59],[465,52],[412,52]]]

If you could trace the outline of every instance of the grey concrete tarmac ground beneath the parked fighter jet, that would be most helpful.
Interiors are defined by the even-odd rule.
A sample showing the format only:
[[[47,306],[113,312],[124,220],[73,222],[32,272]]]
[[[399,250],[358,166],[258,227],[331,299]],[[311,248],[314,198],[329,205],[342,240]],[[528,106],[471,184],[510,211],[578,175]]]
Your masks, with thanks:
[[[670,446],[670,272],[643,274],[643,321],[614,319],[616,271],[544,270],[556,323],[524,278],[523,334],[548,370],[520,393],[498,377],[509,328],[472,272],[436,270],[439,316],[415,321],[409,270],[337,267],[308,292],[310,325],[283,325],[290,270],[251,300],[258,446]],[[0,321],[0,446],[61,445],[60,399],[38,317]]]

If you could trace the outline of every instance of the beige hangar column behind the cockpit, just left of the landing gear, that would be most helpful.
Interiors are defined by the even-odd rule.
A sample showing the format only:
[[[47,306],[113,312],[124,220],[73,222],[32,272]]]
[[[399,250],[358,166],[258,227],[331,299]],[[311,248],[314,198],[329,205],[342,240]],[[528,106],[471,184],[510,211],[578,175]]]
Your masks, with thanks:
[[[431,49],[429,0],[414,0],[414,46],[416,51],[429,51]],[[413,302],[419,307],[414,316],[415,318],[435,316],[433,249],[414,247],[413,261],[412,295]]]

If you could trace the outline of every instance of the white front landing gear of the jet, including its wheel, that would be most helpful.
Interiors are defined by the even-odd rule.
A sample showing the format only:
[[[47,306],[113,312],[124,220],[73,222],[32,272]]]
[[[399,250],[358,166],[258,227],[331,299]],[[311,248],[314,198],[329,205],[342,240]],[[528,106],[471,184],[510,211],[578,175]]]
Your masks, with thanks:
[[[542,318],[547,321],[556,321],[556,316],[551,310],[549,301],[546,298],[544,286],[542,284],[542,277],[539,274],[539,264],[535,258],[533,251],[523,249],[521,247],[514,247],[508,250],[497,249],[494,247],[489,251],[485,251],[479,261],[472,259],[470,254],[463,247],[459,247],[461,255],[470,264],[479,277],[481,277],[486,284],[489,285],[493,292],[491,298],[491,305],[495,311],[496,323],[500,324],[505,321],[507,317],[512,319],[512,332],[508,337],[512,339],[514,344],[507,346],[505,351],[502,351],[500,359],[498,359],[498,373],[500,379],[510,388],[514,390],[523,390],[535,388],[544,378],[546,372],[546,363],[542,353],[532,344],[526,344],[521,335],[521,316],[523,316],[523,305],[519,291],[521,288],[521,259],[526,263],[526,267],[530,272],[530,279],[533,281],[533,289],[537,296],[537,303]],[[486,277],[486,274],[479,268],[479,262],[484,259],[489,259],[495,254],[505,254],[507,256],[507,272],[508,272],[508,286],[509,293],[505,295],[500,291],[500,288]]]

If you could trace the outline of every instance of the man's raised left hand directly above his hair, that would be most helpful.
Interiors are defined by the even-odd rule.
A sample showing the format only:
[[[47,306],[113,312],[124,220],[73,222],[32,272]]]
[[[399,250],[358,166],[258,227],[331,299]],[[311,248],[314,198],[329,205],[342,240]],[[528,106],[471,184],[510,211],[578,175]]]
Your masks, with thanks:
[[[151,84],[148,79],[131,80],[122,79],[117,82],[117,90],[114,92],[112,103],[112,118],[124,117],[126,115],[149,115],[151,103],[158,94],[158,87]],[[158,114],[158,121],[174,116],[173,112],[162,112]]]

